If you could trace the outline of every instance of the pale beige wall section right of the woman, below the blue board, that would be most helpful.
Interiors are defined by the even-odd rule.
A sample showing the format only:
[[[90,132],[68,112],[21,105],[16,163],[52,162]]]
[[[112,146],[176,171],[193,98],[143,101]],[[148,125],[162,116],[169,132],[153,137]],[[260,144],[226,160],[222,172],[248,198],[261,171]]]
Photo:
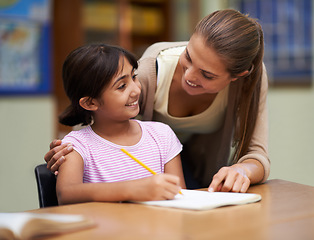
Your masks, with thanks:
[[[314,186],[314,89],[270,88],[270,178]]]

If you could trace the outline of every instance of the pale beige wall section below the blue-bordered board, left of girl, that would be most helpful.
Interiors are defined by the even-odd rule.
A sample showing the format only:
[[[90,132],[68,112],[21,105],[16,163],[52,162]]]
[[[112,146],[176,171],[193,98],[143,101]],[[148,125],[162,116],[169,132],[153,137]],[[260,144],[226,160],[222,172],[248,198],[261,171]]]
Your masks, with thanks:
[[[54,131],[51,97],[0,98],[0,212],[38,208],[34,167]]]

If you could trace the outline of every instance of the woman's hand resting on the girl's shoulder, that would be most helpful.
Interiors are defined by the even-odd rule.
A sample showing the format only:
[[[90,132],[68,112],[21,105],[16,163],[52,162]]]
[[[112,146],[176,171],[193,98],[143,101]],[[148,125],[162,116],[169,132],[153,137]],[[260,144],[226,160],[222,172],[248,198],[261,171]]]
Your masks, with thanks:
[[[50,151],[44,157],[47,162],[47,168],[57,175],[60,165],[65,160],[64,156],[72,152],[72,150],[73,146],[71,144],[62,144],[62,141],[58,139],[53,140],[50,143]]]

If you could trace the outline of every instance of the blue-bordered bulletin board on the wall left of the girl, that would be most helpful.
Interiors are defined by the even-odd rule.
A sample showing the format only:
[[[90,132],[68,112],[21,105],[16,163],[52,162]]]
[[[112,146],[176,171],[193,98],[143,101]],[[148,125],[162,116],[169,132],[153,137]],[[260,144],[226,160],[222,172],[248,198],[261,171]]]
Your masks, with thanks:
[[[51,92],[50,0],[0,3],[0,95]]]

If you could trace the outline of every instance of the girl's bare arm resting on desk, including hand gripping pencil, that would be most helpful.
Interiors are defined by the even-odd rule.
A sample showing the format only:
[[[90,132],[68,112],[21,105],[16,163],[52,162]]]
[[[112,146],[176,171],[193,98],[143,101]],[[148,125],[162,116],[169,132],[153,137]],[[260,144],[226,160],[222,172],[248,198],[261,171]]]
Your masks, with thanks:
[[[83,183],[84,163],[76,151],[66,156],[59,167],[57,196],[59,204],[78,202],[148,201],[173,199],[180,191],[178,176],[152,177],[113,183]]]

